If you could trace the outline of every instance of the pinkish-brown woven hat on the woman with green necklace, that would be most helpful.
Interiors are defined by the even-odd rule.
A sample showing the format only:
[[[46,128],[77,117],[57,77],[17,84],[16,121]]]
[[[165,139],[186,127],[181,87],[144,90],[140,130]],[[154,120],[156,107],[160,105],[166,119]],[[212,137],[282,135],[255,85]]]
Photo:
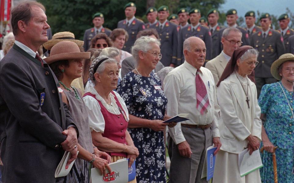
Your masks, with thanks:
[[[89,59],[90,56],[90,52],[80,52],[80,48],[76,43],[61,41],[52,47],[50,56],[44,60],[51,64],[58,60]]]

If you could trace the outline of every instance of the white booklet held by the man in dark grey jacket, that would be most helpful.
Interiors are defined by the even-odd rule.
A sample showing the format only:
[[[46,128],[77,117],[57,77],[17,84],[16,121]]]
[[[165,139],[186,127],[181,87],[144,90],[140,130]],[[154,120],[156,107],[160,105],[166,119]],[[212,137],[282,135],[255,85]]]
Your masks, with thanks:
[[[79,151],[77,152],[79,153]],[[71,168],[74,165],[74,161],[71,162],[69,165],[67,165],[67,161],[68,159],[70,159],[71,153],[66,151],[60,161],[60,163],[58,164],[56,170],[55,170],[55,178],[57,177],[63,177],[66,176],[68,173],[70,173]]]

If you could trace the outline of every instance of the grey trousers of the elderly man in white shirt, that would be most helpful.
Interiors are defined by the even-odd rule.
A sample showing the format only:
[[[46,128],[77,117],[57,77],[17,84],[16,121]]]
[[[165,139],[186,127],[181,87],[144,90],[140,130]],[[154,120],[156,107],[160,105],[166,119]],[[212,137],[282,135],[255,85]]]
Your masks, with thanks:
[[[201,179],[201,173],[206,149],[213,144],[212,130],[182,126],[182,132],[190,145],[192,155],[191,158],[181,156],[177,145],[172,142],[169,183],[207,183],[206,178]]]

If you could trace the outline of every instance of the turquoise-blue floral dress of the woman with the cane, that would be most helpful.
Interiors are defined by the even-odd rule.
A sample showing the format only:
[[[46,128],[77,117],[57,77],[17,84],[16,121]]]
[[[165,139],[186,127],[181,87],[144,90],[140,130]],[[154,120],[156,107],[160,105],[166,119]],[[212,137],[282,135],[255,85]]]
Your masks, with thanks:
[[[283,87],[291,108],[294,108],[294,93],[289,92],[281,82],[266,84],[262,87],[258,104],[261,113],[266,114],[264,128],[269,140],[276,150],[278,181],[294,182],[294,119],[287,99],[281,89]],[[261,143],[262,146],[262,143]],[[263,168],[260,169],[263,183],[274,183],[272,154],[261,154]]]

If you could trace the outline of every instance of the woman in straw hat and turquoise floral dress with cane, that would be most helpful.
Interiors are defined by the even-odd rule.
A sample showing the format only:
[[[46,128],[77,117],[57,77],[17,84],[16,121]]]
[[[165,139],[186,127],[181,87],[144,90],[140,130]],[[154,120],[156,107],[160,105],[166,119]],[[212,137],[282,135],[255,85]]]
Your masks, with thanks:
[[[272,152],[275,146],[278,181],[293,183],[294,175],[294,55],[281,55],[271,66],[271,74],[279,82],[262,87],[258,104],[266,122],[262,126],[263,153],[260,169],[263,182],[273,182]]]

